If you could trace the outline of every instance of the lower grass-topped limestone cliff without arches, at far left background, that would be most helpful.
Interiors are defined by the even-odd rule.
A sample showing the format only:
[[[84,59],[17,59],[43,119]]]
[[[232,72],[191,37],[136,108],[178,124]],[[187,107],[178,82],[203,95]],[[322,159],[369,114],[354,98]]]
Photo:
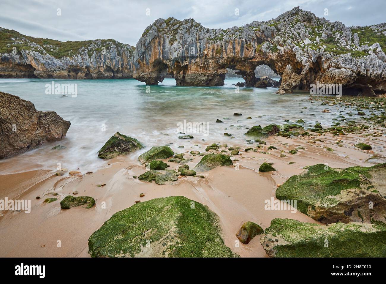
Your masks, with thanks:
[[[0,78],[132,78],[133,54],[113,39],[61,42],[0,27]]]

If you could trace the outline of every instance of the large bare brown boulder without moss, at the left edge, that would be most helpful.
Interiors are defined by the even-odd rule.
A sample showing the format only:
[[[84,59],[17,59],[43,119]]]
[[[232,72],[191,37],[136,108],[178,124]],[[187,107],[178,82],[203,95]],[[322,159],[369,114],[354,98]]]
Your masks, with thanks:
[[[61,140],[70,125],[54,111],[37,111],[32,102],[0,92],[0,159]]]

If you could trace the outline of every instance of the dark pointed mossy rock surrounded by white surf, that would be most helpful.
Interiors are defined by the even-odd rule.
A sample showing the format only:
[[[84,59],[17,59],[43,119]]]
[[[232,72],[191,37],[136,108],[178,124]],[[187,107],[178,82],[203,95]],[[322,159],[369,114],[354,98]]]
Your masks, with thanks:
[[[116,132],[99,150],[98,157],[102,159],[111,159],[118,155],[126,155],[127,153],[141,148],[143,148],[143,146],[137,139]]]

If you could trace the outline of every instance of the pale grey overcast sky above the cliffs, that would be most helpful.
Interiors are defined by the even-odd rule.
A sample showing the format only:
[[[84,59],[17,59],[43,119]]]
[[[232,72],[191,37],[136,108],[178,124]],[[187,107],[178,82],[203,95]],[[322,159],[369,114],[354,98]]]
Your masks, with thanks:
[[[366,26],[385,21],[385,3],[385,0],[0,0],[0,27],[61,41],[111,38],[135,46],[144,29],[158,18],[194,18],[204,27],[226,29],[254,20],[270,20],[300,6],[346,26]],[[235,9],[239,9],[239,16],[235,15]]]

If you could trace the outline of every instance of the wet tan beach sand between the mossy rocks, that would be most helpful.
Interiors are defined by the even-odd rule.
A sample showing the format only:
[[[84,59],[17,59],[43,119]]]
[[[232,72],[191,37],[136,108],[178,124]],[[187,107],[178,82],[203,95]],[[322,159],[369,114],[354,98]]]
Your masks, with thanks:
[[[322,139],[324,142],[308,140]],[[342,139],[343,147],[335,144]],[[317,163],[328,163],[329,167],[346,168],[355,165],[372,166],[365,160],[372,155],[385,158],[384,145],[386,137],[366,137],[364,135],[322,136],[284,138],[270,137],[265,139],[266,145],[259,151],[269,152],[270,155],[258,152],[244,152],[245,148],[253,145],[240,146],[240,155],[232,156],[234,166],[217,167],[208,172],[198,173],[205,176],[180,177],[171,185],[157,185],[154,182],[144,182],[133,178],[146,171],[144,165],[137,162],[139,153],[130,153],[106,160],[105,165],[93,173],[83,174],[81,177],[56,176],[52,170],[34,170],[22,173],[0,175],[0,199],[30,199],[31,212],[23,211],[0,212],[0,257],[90,257],[88,254],[88,238],[102,226],[117,211],[132,206],[135,201],[147,201],[158,197],[185,196],[194,201],[207,205],[220,217],[225,244],[241,257],[267,257],[262,248],[259,237],[255,237],[248,245],[236,244],[235,233],[245,221],[252,221],[265,229],[274,218],[292,218],[303,222],[318,223],[300,212],[271,211],[264,209],[264,201],[275,197],[278,185],[283,184],[292,175],[303,171],[303,167]],[[217,141],[213,141],[217,142]],[[205,151],[205,147],[213,142],[195,149],[178,149],[178,153],[185,153],[184,158],[193,158],[188,163],[193,168],[201,156],[189,154],[191,150]],[[221,142],[221,141],[219,141]],[[372,145],[372,150],[360,150],[355,144],[364,142]],[[288,144],[286,144],[288,143]],[[278,150],[267,150],[273,145]],[[296,155],[288,153],[296,147],[305,147]],[[324,147],[331,147],[333,152]],[[198,149],[196,149],[198,148]],[[146,148],[148,150],[148,148]],[[220,148],[223,150],[223,148]],[[284,150],[286,157],[280,158],[280,150]],[[167,162],[168,169],[178,169],[180,164]],[[260,173],[261,163],[273,162],[277,172]],[[289,162],[295,162],[289,165]],[[4,167],[10,167],[2,163]],[[238,169],[237,169],[238,168]],[[69,171],[76,168],[69,168]],[[103,187],[97,185],[106,184]],[[78,191],[75,196],[91,196],[96,203],[90,209],[74,207],[61,209],[60,200]],[[51,192],[58,196],[51,196]],[[144,197],[139,197],[144,193]],[[40,199],[36,199],[39,196]],[[57,201],[45,204],[47,197],[56,197]],[[103,205],[105,204],[105,206]],[[60,247],[59,247],[60,243]]]

